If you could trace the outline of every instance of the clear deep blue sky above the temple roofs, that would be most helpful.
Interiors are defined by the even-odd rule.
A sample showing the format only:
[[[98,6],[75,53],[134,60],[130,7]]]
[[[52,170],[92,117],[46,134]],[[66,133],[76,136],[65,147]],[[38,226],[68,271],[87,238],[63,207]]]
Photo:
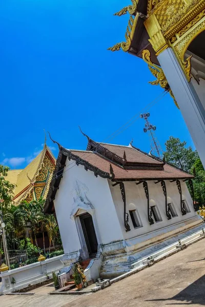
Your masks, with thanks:
[[[151,113],[164,148],[170,137],[192,145],[169,94],[145,108],[163,90],[147,64],[107,48],[124,40],[129,16],[113,13],[129,0],[7,0],[0,2],[0,163],[23,168],[42,149],[44,129],[63,146],[86,149],[78,125],[96,141],[150,150],[144,120],[108,138],[142,111]],[[53,153],[57,146],[50,140]],[[15,158],[15,159],[13,159]]]

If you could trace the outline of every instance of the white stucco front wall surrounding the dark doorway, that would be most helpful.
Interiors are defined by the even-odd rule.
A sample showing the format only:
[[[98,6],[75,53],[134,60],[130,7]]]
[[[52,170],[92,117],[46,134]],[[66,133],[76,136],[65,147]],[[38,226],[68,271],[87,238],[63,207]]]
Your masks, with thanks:
[[[94,207],[94,227],[98,244],[108,244],[122,240],[123,235],[115,211],[107,179],[95,177],[94,172],[86,171],[84,166],[76,165],[67,159],[63,179],[54,201],[56,217],[65,254],[76,252],[81,248],[74,219],[70,218],[75,207],[76,181],[78,186]],[[84,194],[85,195],[85,194]],[[90,212],[89,212],[90,213]],[[95,225],[96,224],[96,225]]]

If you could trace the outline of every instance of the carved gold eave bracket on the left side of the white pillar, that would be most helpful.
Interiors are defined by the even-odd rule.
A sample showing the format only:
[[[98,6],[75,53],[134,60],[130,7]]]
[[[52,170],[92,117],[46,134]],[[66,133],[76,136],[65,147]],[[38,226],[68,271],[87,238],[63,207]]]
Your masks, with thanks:
[[[150,81],[149,83],[152,84],[152,85],[158,85],[159,84],[162,87],[162,89],[165,89],[167,92],[169,92],[171,97],[174,99],[175,105],[177,106],[177,108],[179,108],[179,106],[178,106],[178,104],[177,104],[177,102],[174,98],[174,95],[172,93],[172,90],[169,86],[169,83],[166,79],[166,76],[163,73],[162,69],[158,65],[151,62],[150,51],[147,50],[147,49],[143,50],[142,51],[142,58],[144,59],[144,61],[146,63],[148,63],[148,67],[149,67],[151,73],[153,74],[153,76],[156,77],[156,80]]]

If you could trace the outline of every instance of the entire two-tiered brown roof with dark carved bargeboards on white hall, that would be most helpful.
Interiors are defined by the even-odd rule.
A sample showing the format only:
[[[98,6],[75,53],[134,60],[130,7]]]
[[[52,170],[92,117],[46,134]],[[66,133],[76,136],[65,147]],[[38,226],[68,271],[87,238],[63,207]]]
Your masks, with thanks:
[[[69,150],[58,144],[59,154],[50,184],[45,212],[54,212],[53,201],[63,177],[67,157],[77,165],[84,165],[95,176],[119,181],[178,180],[194,178],[164,160],[150,156],[146,152],[129,146],[98,143],[88,138],[87,150]],[[69,168],[67,168],[68,170]]]

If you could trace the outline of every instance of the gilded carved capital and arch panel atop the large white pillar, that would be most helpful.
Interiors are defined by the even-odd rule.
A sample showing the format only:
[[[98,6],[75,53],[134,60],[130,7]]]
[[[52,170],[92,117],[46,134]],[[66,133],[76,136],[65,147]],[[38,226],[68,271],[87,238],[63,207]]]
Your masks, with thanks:
[[[205,30],[205,0],[148,0],[145,27],[156,55],[171,47],[191,80],[191,57],[185,60],[192,40]]]

